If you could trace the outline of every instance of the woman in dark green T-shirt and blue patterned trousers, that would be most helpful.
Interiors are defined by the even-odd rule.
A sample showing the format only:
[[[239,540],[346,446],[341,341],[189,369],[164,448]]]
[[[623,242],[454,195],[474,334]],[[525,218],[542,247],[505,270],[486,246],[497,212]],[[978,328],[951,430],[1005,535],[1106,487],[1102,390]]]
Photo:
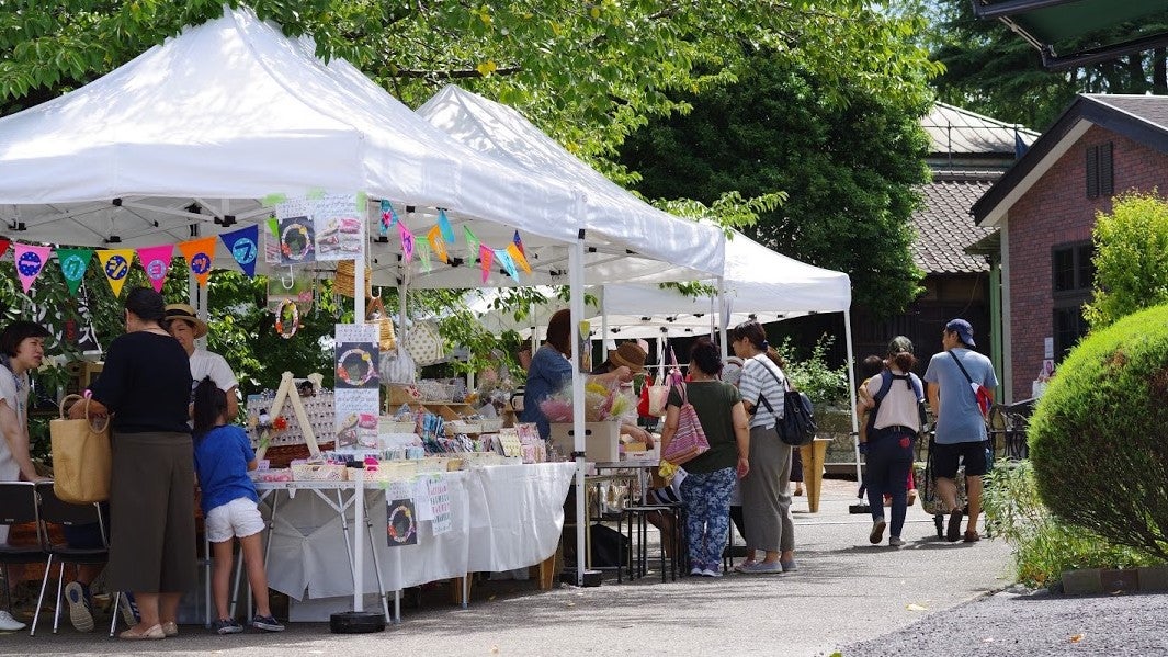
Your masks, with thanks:
[[[684,464],[681,499],[686,507],[686,542],[690,575],[719,578],[718,562],[730,532],[730,497],[736,479],[750,472],[750,429],[738,389],[719,381],[722,358],[717,346],[700,338],[689,352],[689,382],[669,390],[661,449],[677,433],[687,401],[702,424],[710,449]]]

